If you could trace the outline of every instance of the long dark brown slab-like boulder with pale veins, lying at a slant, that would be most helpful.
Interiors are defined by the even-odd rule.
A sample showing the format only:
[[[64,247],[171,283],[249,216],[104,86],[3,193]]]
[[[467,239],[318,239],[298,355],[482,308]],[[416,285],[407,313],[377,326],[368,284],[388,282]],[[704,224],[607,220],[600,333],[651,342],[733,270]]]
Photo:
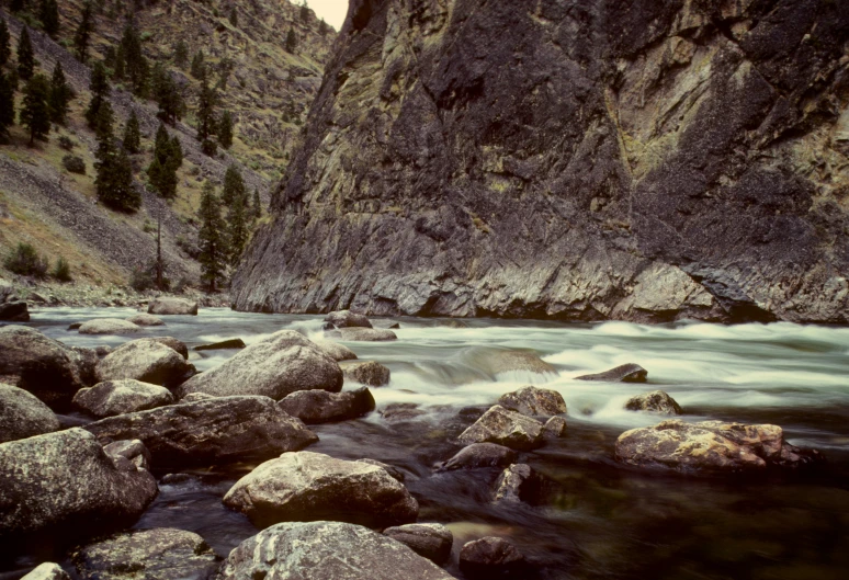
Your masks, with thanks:
[[[217,397],[89,423],[103,443],[140,440],[159,465],[267,459],[318,441],[268,397]]]

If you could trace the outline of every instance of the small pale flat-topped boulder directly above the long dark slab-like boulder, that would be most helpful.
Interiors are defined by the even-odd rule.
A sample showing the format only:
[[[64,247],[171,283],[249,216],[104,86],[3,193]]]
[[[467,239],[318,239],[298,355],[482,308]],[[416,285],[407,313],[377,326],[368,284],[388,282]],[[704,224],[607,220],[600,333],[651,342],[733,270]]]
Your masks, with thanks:
[[[165,387],[132,378],[105,380],[82,388],[73,396],[73,405],[98,418],[155,409],[174,402]]]

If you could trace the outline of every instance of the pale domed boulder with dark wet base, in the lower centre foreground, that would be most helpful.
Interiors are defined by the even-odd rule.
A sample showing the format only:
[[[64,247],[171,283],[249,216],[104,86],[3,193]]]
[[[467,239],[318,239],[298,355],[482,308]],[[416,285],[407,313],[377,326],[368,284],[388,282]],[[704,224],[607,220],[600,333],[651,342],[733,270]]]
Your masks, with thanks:
[[[385,469],[321,453],[284,453],[239,479],[224,503],[264,527],[332,520],[374,527],[415,522],[418,502]]]

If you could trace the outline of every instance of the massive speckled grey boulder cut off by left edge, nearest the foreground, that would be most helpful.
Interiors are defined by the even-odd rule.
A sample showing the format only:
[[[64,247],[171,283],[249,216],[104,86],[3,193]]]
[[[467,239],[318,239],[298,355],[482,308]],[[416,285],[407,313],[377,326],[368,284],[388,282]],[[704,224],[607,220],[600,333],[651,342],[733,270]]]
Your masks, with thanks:
[[[0,537],[57,526],[102,532],[135,521],[156,480],[82,429],[0,444]]]

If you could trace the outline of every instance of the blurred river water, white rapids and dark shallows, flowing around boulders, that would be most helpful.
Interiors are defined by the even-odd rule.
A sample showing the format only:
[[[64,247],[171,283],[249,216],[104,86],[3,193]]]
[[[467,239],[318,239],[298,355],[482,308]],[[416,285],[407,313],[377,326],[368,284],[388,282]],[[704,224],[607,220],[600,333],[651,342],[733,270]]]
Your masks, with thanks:
[[[49,309],[35,312],[31,325],[71,345],[116,345],[131,339],[84,337],[66,327],[132,314]],[[543,579],[849,578],[849,329],[501,320],[468,320],[464,328],[452,328],[438,319],[398,321],[396,342],[346,344],[361,360],[392,369],[390,384],[372,389],[378,411],[408,402],[424,413],[400,423],[374,412],[317,425],[320,442],[309,450],[401,468],[421,505],[419,521],[441,522],[453,531],[454,562],[464,542],[498,535],[535,562]],[[308,316],[204,309],[197,317],[168,317],[167,323],[144,334],[173,336],[190,349],[235,337],[251,343],[284,328],[321,337],[320,317]],[[495,373],[493,361],[508,350],[535,352],[557,372]],[[205,371],[235,352],[193,353],[192,362]],[[574,379],[631,362],[648,371],[648,385]],[[434,464],[459,451],[456,435],[480,411],[528,384],[556,389],[569,408],[568,434],[523,456],[552,482],[540,504],[493,505],[496,469],[433,473]],[[791,443],[824,452],[828,466],[815,475],[731,479],[623,469],[612,459],[616,436],[660,420],[625,411],[623,405],[657,388],[683,407],[687,421],[779,424]],[[71,424],[81,417],[64,420]],[[177,482],[160,482],[159,497],[136,527],[190,530],[226,556],[257,533],[220,502],[252,467],[195,469]],[[58,558],[48,544],[9,560],[4,569],[10,572],[0,578]],[[455,564],[448,569],[462,578]]]

